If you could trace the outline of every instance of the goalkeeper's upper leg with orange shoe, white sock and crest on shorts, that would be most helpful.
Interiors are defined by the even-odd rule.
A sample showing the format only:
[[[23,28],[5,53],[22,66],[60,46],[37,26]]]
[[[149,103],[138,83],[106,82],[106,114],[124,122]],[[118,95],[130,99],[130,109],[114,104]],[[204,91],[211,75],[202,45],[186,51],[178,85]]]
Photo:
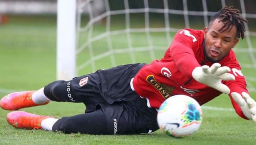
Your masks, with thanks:
[[[0,107],[18,110],[25,107],[48,104],[49,101],[83,102],[87,112],[94,111],[96,104],[131,101],[129,81],[144,64],[120,65],[98,70],[69,81],[58,80],[38,91],[15,92],[0,100]]]

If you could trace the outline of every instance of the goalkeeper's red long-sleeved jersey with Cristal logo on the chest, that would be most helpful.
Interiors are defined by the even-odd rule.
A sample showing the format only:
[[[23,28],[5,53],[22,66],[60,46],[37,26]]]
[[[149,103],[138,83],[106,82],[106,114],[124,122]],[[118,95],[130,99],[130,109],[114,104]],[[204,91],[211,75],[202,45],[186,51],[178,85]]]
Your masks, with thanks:
[[[132,81],[132,86],[137,94],[147,98],[149,107],[158,109],[166,98],[176,94],[188,95],[196,99],[200,105],[222,94],[192,78],[192,71],[197,66],[213,64],[205,59],[203,40],[202,30],[181,29],[174,36],[161,60],[154,60],[140,69]],[[222,81],[230,88],[230,93],[248,93],[245,78],[234,52],[231,50],[218,63],[230,67],[229,73],[236,78],[232,81]],[[239,105],[230,94],[229,96],[237,114],[247,119]]]

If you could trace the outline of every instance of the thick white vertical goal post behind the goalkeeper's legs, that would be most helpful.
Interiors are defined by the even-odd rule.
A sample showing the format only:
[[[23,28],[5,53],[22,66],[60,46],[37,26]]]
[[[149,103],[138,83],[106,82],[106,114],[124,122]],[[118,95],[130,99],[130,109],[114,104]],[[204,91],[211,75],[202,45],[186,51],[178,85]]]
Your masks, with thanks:
[[[76,0],[57,0],[57,80],[76,75]]]

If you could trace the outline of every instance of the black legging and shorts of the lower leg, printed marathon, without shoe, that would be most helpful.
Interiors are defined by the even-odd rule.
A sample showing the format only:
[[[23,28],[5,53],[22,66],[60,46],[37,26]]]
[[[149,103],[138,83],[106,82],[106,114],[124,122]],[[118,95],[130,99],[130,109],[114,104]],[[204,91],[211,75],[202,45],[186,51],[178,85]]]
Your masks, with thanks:
[[[100,104],[97,110],[77,116],[63,117],[53,125],[53,130],[84,134],[140,134],[158,130],[157,111],[147,107],[147,101],[118,104]]]

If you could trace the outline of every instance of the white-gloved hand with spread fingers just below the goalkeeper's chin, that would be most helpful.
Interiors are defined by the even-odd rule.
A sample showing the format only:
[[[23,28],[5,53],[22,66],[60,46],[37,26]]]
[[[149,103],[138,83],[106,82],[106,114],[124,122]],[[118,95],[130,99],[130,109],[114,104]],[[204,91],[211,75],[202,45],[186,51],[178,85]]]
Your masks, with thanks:
[[[221,80],[235,80],[235,76],[230,72],[230,68],[214,63],[209,68],[208,65],[198,66],[192,72],[192,77],[209,87],[212,87],[222,93],[229,94],[230,88],[221,83]]]

